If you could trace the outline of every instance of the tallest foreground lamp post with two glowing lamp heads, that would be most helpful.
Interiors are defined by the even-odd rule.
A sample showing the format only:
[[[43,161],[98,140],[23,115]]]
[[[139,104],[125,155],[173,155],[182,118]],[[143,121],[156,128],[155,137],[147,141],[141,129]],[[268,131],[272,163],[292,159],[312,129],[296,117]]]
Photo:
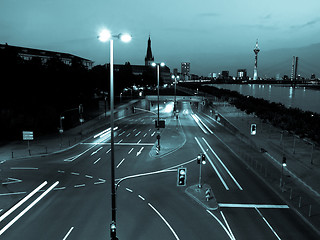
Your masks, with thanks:
[[[131,35],[117,34],[112,35],[108,30],[104,29],[99,34],[101,42],[110,41],[110,127],[111,127],[111,209],[112,221],[110,224],[111,240],[117,240],[116,232],[116,188],[115,188],[115,168],[114,168],[114,94],[113,94],[113,38],[120,39],[123,42],[130,42]]]

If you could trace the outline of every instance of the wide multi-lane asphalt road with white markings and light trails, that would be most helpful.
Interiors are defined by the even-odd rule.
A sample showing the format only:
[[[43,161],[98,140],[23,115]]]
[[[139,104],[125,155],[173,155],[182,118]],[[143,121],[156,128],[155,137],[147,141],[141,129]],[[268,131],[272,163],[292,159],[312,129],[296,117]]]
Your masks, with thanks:
[[[179,108],[179,120],[165,107],[161,114],[168,127],[181,126],[185,144],[161,158],[150,154],[155,115],[115,123],[119,239],[319,239],[226,147],[224,142],[238,141],[234,136],[209,116],[193,113],[189,102]],[[0,239],[110,239],[107,128],[68,151],[1,165]],[[185,193],[199,182],[201,152],[207,159],[202,183],[211,186],[217,210]],[[186,187],[177,186],[179,166],[187,168]]]

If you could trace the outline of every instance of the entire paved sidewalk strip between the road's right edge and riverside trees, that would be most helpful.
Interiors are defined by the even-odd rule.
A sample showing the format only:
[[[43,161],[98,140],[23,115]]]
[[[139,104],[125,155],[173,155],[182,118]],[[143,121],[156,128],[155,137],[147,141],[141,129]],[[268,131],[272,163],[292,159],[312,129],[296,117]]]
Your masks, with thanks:
[[[237,158],[320,235],[319,149],[311,149],[309,143],[302,139],[294,140],[289,133],[284,133],[234,106],[217,106],[215,110],[219,113],[220,123],[242,144],[249,146],[247,151],[231,146]],[[253,123],[257,125],[254,136],[250,132]],[[281,174],[283,156],[286,156],[287,166],[283,167]]]

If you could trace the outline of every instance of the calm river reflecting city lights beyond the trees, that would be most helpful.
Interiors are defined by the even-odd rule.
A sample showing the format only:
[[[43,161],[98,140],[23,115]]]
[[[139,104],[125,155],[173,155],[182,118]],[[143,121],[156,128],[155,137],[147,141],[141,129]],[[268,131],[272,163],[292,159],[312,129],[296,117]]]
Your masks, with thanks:
[[[282,103],[287,107],[300,108],[320,114],[320,91],[305,87],[273,84],[210,84],[211,86],[237,91],[242,95],[263,98]]]

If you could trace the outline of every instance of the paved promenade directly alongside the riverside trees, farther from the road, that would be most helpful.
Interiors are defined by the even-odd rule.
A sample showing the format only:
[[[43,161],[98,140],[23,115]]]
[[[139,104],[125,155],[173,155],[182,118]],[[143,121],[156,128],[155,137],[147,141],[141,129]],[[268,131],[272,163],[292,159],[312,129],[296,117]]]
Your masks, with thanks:
[[[288,173],[301,179],[320,198],[320,149],[234,106],[226,105],[217,110],[258,149],[267,150],[276,164],[280,166],[285,156]],[[251,135],[251,124],[257,126],[256,135]]]

